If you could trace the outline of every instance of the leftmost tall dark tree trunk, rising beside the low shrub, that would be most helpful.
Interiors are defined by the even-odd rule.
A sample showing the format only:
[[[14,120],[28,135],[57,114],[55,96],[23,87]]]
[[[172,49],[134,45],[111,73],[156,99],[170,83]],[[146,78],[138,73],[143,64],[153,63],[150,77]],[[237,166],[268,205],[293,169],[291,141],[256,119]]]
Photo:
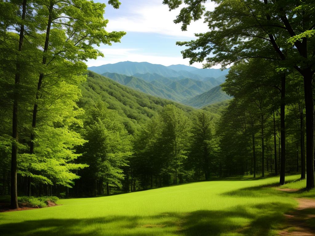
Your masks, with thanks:
[[[24,23],[26,14],[26,0],[22,3],[22,25],[20,27],[19,52],[22,51],[24,38]],[[19,60],[19,59],[18,59]],[[13,116],[12,116],[12,153],[11,153],[11,207],[19,208],[17,195],[17,154],[18,154],[18,87],[20,85],[20,62],[16,63],[16,73],[14,81],[14,101],[13,101]]]

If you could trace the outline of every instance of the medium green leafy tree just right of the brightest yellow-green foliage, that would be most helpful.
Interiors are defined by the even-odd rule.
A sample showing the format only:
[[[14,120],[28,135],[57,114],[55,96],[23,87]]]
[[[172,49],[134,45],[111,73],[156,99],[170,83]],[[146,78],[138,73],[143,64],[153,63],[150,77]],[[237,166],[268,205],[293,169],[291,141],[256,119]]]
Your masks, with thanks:
[[[89,140],[80,149],[80,161],[89,164],[83,171],[89,178],[121,188],[124,178],[123,166],[128,165],[131,156],[131,136],[120,121],[117,112],[107,108],[107,104],[96,102],[86,107],[82,135]]]

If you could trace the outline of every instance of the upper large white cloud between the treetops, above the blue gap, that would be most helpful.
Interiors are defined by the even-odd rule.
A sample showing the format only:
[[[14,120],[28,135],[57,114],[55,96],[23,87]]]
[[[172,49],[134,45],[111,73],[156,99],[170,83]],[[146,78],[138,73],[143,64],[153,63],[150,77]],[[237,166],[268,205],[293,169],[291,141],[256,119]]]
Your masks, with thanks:
[[[181,31],[181,24],[175,24],[173,20],[179,14],[179,9],[169,11],[168,6],[162,1],[149,1],[150,5],[133,5],[129,16],[114,17],[109,20],[108,31],[146,32],[169,35],[173,37],[194,37],[194,33],[208,31],[203,20],[192,22],[187,31]],[[207,9],[213,9],[214,3],[206,4]]]

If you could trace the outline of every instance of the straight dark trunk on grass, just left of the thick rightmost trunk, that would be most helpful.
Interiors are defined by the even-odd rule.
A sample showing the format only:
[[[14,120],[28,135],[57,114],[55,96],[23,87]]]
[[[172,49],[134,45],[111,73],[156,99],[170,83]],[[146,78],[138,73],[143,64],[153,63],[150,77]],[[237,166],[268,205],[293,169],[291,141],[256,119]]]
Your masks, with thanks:
[[[280,102],[280,127],[281,127],[281,163],[280,163],[280,185],[284,184],[285,178],[285,74],[281,75],[281,102]]]

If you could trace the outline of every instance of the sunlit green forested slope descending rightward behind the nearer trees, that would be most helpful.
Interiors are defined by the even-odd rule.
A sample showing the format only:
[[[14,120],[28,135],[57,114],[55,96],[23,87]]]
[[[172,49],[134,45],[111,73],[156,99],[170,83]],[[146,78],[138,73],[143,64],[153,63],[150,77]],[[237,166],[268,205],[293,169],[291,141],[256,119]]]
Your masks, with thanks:
[[[185,111],[193,110],[192,107],[135,91],[92,71],[88,71],[87,75],[87,81],[81,85],[83,97],[78,103],[79,106],[91,106],[95,101],[106,102],[109,109],[117,110],[130,133],[139,127],[139,123],[149,120],[166,104],[175,104]]]

